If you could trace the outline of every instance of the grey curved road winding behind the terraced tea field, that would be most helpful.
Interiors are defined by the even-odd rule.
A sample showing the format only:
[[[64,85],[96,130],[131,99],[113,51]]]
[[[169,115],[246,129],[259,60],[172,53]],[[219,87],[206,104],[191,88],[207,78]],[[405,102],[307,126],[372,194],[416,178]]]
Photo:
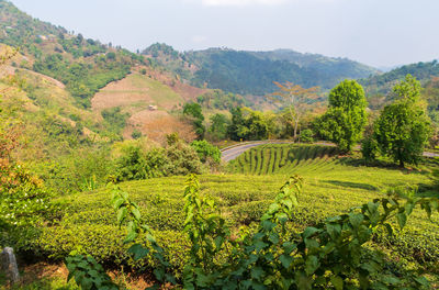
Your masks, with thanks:
[[[284,144],[284,143],[293,143],[292,141],[280,141],[280,140],[271,140],[271,141],[254,141],[254,142],[246,142],[244,144],[238,144],[234,145],[230,147],[226,147],[221,150],[221,159],[223,161],[230,161],[233,159],[236,159],[239,155],[245,153],[246,150],[263,145],[263,144]],[[335,146],[333,143],[314,143],[314,145],[324,145],[324,146]],[[439,154],[437,153],[431,153],[431,152],[425,152],[424,153],[425,157],[439,157]]]

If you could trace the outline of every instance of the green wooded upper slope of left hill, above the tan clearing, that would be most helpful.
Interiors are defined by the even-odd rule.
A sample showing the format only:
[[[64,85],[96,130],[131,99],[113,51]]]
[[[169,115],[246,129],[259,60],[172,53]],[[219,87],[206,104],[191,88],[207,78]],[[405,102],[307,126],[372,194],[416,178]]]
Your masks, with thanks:
[[[20,48],[23,57],[13,66],[61,81],[83,108],[90,107],[99,89],[144,62],[126,49],[33,19],[4,0],[0,0],[0,43]]]

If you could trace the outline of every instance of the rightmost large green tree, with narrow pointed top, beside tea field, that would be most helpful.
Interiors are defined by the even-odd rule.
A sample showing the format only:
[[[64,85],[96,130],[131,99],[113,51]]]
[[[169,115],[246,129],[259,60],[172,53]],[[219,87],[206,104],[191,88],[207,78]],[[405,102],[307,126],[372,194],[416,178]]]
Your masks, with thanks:
[[[374,124],[373,138],[382,155],[404,167],[417,164],[431,134],[430,120],[419,99],[420,83],[407,75],[393,88],[396,100],[386,105]]]

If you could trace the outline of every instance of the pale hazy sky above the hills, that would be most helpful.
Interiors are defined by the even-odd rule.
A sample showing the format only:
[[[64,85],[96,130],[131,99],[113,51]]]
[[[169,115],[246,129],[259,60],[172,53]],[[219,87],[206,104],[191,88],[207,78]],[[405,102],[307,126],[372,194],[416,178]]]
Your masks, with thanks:
[[[12,0],[85,37],[143,49],[225,46],[349,57],[372,66],[439,58],[439,0]]]

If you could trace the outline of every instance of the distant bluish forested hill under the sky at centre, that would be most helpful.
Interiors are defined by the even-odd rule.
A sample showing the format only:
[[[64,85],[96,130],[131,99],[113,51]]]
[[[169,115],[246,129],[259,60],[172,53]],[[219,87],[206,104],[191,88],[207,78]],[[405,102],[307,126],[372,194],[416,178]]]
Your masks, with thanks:
[[[303,87],[333,88],[346,78],[365,78],[376,69],[347,58],[301,54],[289,49],[246,52],[228,48],[179,53],[166,44],[143,52],[190,83],[240,94],[264,96],[275,90],[273,81]]]

